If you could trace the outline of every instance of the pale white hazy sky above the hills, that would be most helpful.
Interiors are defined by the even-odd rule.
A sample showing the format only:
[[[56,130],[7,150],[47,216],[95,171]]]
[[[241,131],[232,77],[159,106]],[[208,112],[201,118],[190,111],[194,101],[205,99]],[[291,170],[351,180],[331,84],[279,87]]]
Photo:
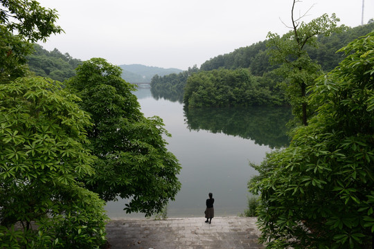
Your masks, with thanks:
[[[292,0],[39,0],[60,15],[65,34],[42,44],[47,50],[86,60],[163,68],[200,66],[207,59],[280,35],[290,25]],[[313,7],[312,7],[313,6]],[[362,0],[304,0],[305,22],[335,12],[341,24],[359,26]],[[365,0],[364,24],[374,18],[374,0]]]

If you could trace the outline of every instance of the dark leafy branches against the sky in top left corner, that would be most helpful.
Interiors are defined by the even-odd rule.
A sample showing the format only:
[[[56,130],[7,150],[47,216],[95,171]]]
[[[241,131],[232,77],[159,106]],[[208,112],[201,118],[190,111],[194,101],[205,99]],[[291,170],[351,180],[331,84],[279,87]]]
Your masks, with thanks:
[[[63,32],[56,10],[46,9],[37,1],[1,0],[0,7],[0,81],[24,76],[26,55],[33,53],[33,42],[46,41]]]

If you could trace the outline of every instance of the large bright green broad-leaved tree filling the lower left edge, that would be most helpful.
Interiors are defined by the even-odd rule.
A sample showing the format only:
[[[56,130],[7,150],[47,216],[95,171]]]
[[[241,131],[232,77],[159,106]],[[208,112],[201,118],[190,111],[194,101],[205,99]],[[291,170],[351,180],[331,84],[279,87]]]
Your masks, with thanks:
[[[94,172],[78,100],[39,77],[0,84],[0,248],[105,242],[104,202],[77,181]]]

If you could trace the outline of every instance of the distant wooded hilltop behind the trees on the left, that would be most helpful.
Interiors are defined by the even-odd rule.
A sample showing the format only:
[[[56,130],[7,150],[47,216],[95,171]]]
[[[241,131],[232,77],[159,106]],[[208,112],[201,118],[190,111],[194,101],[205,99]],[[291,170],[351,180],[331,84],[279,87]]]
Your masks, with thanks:
[[[34,44],[34,53],[28,55],[28,68],[35,75],[50,77],[63,82],[75,75],[75,68],[82,64],[80,59],[75,59],[69,53],[62,54],[57,48],[52,51],[45,50],[42,46]]]

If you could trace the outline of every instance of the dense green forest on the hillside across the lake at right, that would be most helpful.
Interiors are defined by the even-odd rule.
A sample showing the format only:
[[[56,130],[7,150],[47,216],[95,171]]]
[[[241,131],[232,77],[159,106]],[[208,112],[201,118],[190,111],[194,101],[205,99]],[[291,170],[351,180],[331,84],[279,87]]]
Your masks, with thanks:
[[[333,33],[330,37],[320,35],[317,37],[318,48],[308,46],[306,48],[307,53],[310,59],[321,65],[323,71],[330,71],[344,58],[343,53],[337,53],[339,48],[345,46],[353,39],[357,39],[357,37],[370,33],[373,29],[374,22],[371,20],[364,26],[347,28],[344,32]],[[283,77],[277,75],[274,71],[278,68],[278,65],[269,62],[268,42],[269,40],[265,40],[251,46],[238,48],[232,53],[218,55],[204,62],[199,69],[194,66],[189,68],[188,71],[179,74],[163,77],[156,75],[151,81],[152,95],[174,101],[179,100],[179,102],[184,100],[185,104],[190,107],[284,105],[287,100],[285,100],[285,93],[283,93],[281,87]],[[250,85],[253,89],[249,90],[249,82],[243,84],[241,81],[236,85],[233,82],[224,81],[235,74],[235,72],[231,71],[238,68],[246,68],[250,75],[256,76],[250,77]],[[226,73],[229,75],[224,76]],[[220,76],[217,77],[217,75]],[[191,86],[188,86],[188,91],[185,94],[187,79]],[[215,83],[212,85],[213,82]],[[222,90],[222,87],[227,88],[230,84],[230,91]],[[240,87],[243,88],[240,89]],[[254,91],[252,95],[248,95],[249,91],[252,90]],[[246,91],[247,95],[244,94]],[[236,96],[234,93],[239,95]],[[209,95],[210,98],[202,98],[203,95]],[[192,99],[189,100],[189,98]],[[244,100],[244,98],[247,99]],[[264,99],[259,100],[259,98]],[[202,102],[197,101],[197,99],[202,100]],[[227,99],[231,101],[227,102]]]

